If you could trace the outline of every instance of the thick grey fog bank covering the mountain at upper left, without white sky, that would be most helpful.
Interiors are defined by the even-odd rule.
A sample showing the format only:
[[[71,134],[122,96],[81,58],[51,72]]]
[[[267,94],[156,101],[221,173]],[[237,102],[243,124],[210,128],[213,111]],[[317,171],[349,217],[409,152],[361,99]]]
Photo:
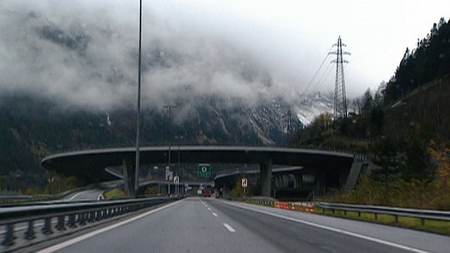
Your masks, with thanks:
[[[84,3],[84,4],[83,4]],[[113,110],[134,106],[138,64],[136,4],[6,1],[1,4],[0,93],[31,93],[65,107]],[[270,94],[295,99],[293,87],[271,74],[262,58],[224,37],[144,8],[142,103],[198,96],[238,98],[255,105]],[[227,106],[224,103],[224,106]]]

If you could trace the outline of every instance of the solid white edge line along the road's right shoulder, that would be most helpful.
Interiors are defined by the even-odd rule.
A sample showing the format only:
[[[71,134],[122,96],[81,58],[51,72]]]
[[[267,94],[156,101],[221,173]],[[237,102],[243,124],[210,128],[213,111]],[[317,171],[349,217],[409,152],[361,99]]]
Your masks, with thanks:
[[[224,203],[225,203],[226,205],[231,205],[230,203],[227,203],[227,202],[225,202],[225,201],[224,201]],[[233,206],[233,207],[238,207],[238,208],[242,208],[242,209],[247,209],[247,208],[244,208],[244,207],[239,207],[238,205],[231,205],[231,206]],[[312,223],[312,222],[309,222],[309,221],[302,221],[302,220],[300,220],[300,219],[295,219],[295,218],[288,217],[288,216],[283,216],[283,215],[280,215],[280,214],[274,214],[274,213],[271,213],[271,212],[266,212],[265,210],[263,211],[263,210],[259,210],[259,209],[253,209],[253,208],[249,208],[248,210],[250,210],[250,211],[255,211],[255,212],[260,212],[260,213],[262,213],[262,214],[268,214],[268,215],[275,216],[275,217],[278,217],[278,218],[281,218],[281,219],[287,219],[287,220],[289,220],[289,221],[295,221],[295,222],[298,222],[298,223],[304,223],[304,224],[306,224],[306,225],[314,226],[314,227],[316,227],[316,228],[322,228],[322,229],[326,229],[326,230],[328,230],[328,231],[333,231],[333,232],[337,232],[337,233],[342,233],[342,234],[344,234],[344,235],[350,235],[350,236],[353,236],[353,237],[356,237],[356,238],[361,238],[361,239],[364,239],[364,240],[369,240],[369,241],[371,241],[371,242],[378,242],[378,243],[380,243],[380,244],[388,245],[388,246],[391,246],[391,247],[397,247],[397,248],[399,248],[399,249],[406,249],[406,250],[409,250],[409,251],[411,251],[411,252],[417,252],[417,253],[431,253],[431,252],[428,252],[428,251],[425,251],[425,250],[422,250],[422,249],[416,249],[416,248],[409,247],[409,246],[405,246],[405,245],[399,245],[399,244],[397,244],[397,243],[395,243],[395,242],[389,242],[389,241],[387,241],[387,240],[382,240],[382,239],[372,238],[372,237],[367,236],[367,235],[359,235],[359,234],[357,234],[357,233],[353,233],[353,232],[349,232],[349,231],[344,231],[344,230],[339,229],[339,228],[331,228],[331,227],[328,227],[328,226],[319,225],[319,224]],[[225,226],[225,224],[226,224],[226,223],[224,223],[224,226]]]

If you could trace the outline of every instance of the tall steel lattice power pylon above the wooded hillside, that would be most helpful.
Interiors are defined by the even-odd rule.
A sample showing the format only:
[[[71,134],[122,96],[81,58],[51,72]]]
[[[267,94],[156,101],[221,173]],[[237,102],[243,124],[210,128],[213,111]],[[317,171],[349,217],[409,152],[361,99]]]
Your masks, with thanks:
[[[333,46],[336,46],[336,51],[331,51],[328,55],[336,55],[336,59],[331,61],[331,63],[336,63],[334,118],[347,118],[347,95],[345,91],[344,63],[348,63],[348,60],[344,60],[342,56],[350,55],[350,53],[347,51],[342,51],[342,46],[345,47],[347,45],[342,43],[340,37],[338,38],[338,43]]]

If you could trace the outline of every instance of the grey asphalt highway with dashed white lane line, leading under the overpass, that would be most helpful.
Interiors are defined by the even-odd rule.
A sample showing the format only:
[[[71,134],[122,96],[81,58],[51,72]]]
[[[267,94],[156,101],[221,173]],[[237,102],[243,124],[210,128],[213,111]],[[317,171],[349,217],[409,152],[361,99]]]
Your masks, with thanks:
[[[49,252],[450,252],[404,228],[191,197],[42,249]]]

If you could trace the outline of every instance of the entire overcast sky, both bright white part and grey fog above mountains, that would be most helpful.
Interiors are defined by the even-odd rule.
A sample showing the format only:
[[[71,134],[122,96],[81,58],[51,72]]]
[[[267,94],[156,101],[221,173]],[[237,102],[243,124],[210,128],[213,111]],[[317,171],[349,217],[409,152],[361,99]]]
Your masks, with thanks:
[[[406,46],[413,48],[442,16],[450,17],[448,0],[143,0],[144,57],[159,41],[172,66],[143,74],[143,96],[164,103],[167,91],[183,85],[252,100],[268,80],[267,92],[281,96],[332,91],[332,56],[309,83],[338,36],[352,53],[347,94],[360,96],[390,79]],[[33,91],[103,108],[131,100],[138,22],[138,0],[1,1],[0,93]],[[49,25],[64,36],[86,35],[88,46],[71,51],[43,39]],[[236,77],[242,72],[252,81]]]

